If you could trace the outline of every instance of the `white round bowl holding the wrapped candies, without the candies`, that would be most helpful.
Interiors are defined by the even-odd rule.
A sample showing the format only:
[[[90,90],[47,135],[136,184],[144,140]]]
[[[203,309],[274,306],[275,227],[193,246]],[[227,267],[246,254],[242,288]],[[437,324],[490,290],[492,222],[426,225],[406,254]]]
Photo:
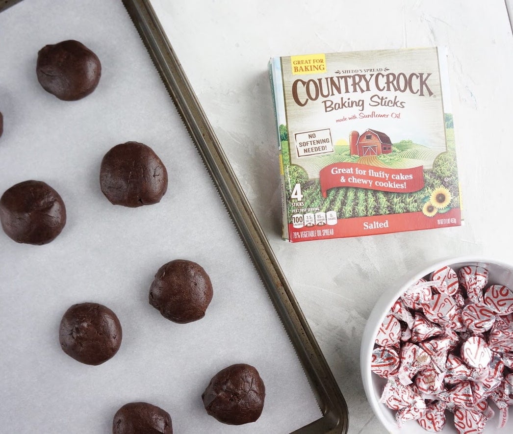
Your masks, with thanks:
[[[402,279],[396,282],[395,285],[383,292],[381,297],[378,299],[378,302],[370,312],[369,319],[367,320],[367,324],[363,332],[362,346],[360,349],[360,367],[367,400],[384,427],[392,433],[426,434],[428,431],[424,430],[417,421],[407,421],[402,428],[398,428],[395,419],[396,411],[390,410],[386,405],[380,403],[381,394],[383,387],[386,384],[386,380],[372,373],[370,370],[374,340],[376,339],[378,329],[386,314],[400,295],[420,278],[445,265],[450,266],[455,271],[458,271],[465,265],[479,265],[487,268],[489,271],[488,285],[502,284],[509,288],[513,287],[513,265],[486,258],[457,257],[437,261],[430,265],[424,265],[412,270],[411,273],[405,275]],[[496,410],[494,405],[491,405],[491,407]],[[513,432],[513,417],[511,417],[511,410],[512,409],[510,407],[510,417],[504,428],[497,429],[498,411],[496,411],[494,418],[487,422],[484,432],[503,432],[504,434]],[[448,412],[446,412],[446,415],[448,415]],[[457,432],[451,416],[447,417],[447,423],[445,424],[442,432]]]

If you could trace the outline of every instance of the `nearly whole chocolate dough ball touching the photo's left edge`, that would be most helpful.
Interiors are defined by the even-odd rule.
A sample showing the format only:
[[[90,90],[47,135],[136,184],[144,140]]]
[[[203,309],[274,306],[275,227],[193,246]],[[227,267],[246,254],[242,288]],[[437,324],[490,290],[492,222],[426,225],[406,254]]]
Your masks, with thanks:
[[[66,207],[48,184],[24,181],[0,198],[0,222],[4,232],[17,243],[47,244],[66,225]]]

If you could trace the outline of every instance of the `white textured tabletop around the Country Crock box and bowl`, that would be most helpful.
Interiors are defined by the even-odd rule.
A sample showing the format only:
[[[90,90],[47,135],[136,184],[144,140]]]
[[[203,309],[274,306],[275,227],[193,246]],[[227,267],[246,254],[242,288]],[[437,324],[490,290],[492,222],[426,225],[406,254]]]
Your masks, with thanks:
[[[349,432],[384,432],[359,368],[378,295],[411,267],[450,255],[513,262],[513,39],[504,0],[152,3],[342,389]],[[465,225],[282,241],[269,57],[432,45],[449,52]]]

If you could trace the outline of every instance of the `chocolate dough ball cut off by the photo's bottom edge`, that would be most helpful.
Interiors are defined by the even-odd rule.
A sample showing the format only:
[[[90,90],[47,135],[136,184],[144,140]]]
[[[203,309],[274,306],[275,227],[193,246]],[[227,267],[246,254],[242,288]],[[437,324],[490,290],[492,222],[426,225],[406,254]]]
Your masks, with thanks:
[[[112,434],[173,434],[167,411],[147,402],[130,402],[117,410]]]

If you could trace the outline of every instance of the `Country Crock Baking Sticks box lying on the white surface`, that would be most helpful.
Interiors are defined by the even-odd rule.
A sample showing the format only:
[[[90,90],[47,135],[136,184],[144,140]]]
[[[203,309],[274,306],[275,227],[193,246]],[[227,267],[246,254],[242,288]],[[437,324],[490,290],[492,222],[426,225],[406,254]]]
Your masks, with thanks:
[[[273,57],[269,75],[285,240],[461,225],[442,49]]]

